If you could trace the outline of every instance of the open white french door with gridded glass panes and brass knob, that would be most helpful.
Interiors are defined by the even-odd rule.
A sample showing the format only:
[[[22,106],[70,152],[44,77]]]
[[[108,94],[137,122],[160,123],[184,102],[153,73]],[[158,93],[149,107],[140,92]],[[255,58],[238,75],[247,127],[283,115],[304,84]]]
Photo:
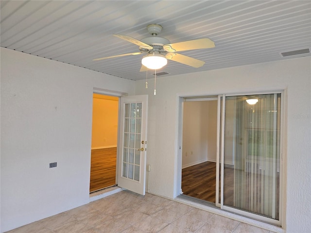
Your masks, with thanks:
[[[118,186],[145,195],[148,95],[121,97]]]

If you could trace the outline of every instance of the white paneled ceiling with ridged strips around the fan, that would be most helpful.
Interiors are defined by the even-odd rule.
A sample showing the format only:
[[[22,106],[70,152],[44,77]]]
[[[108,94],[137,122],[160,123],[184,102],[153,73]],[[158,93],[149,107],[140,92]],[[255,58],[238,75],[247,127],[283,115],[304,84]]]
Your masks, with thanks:
[[[94,58],[137,52],[148,24],[171,43],[210,38],[216,47],[179,52],[205,61],[199,68],[174,61],[157,72],[170,75],[292,58],[280,52],[311,48],[310,0],[1,0],[1,47],[117,77],[142,80],[142,55],[102,61]],[[297,56],[310,56],[304,53]],[[150,71],[154,73],[154,71]],[[163,76],[164,77],[164,76]]]

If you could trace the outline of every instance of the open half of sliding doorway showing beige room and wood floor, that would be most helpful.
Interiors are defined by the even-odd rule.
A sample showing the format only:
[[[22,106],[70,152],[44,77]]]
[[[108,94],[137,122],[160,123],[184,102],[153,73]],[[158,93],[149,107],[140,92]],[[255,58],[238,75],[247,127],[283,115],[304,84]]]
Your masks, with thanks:
[[[182,148],[183,195],[215,205],[217,98],[185,99]]]

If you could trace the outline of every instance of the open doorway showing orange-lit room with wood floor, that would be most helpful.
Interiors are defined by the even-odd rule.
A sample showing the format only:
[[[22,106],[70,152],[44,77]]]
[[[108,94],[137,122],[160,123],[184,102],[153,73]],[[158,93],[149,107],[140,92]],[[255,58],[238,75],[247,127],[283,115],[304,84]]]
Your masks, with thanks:
[[[93,94],[89,192],[116,185],[119,97]]]

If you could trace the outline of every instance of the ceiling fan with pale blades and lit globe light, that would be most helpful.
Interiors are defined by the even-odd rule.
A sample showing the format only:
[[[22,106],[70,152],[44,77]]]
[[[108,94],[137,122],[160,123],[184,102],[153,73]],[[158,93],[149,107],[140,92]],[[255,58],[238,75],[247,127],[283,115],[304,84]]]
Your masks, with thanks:
[[[162,29],[162,26],[158,24],[148,25],[147,30],[152,36],[146,37],[142,40],[137,40],[127,35],[113,34],[116,37],[138,45],[139,52],[102,57],[94,59],[93,61],[100,61],[104,59],[123,57],[128,55],[146,54],[141,60],[142,66],[140,68],[140,71],[146,71],[147,68],[162,68],[167,64],[167,59],[182,63],[184,65],[188,65],[190,67],[198,68],[202,67],[205,62],[176,52],[215,47],[215,43],[208,38],[188,40],[171,44],[168,39],[157,36],[162,31]]]

